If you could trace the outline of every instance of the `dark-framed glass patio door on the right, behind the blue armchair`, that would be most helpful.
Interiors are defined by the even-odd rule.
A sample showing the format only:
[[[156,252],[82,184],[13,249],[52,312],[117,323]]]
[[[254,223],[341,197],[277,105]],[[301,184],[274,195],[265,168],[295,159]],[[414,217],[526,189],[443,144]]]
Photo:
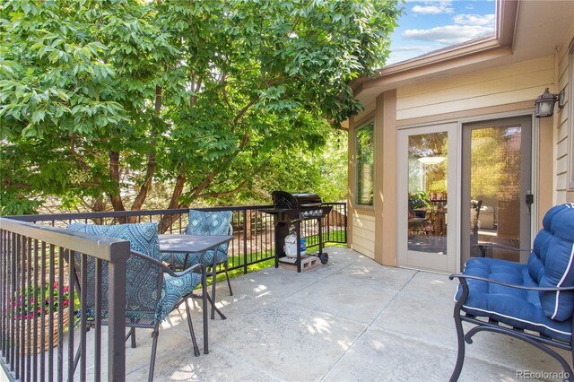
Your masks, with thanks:
[[[531,124],[532,117],[511,117],[464,125],[464,261],[488,256],[519,262],[528,256],[505,247],[530,247]],[[477,243],[501,247],[481,253]]]

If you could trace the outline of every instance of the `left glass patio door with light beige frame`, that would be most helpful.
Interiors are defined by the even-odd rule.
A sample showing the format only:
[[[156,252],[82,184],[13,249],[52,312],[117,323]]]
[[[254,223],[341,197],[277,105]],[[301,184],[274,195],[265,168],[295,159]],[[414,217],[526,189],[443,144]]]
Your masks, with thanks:
[[[456,270],[456,127],[398,134],[398,265]]]

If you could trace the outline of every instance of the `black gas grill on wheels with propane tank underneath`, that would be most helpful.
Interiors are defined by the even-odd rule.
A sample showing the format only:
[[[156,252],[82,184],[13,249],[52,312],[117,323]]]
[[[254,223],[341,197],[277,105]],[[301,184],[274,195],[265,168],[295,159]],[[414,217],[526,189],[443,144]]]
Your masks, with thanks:
[[[275,226],[275,268],[279,267],[280,263],[297,265],[297,272],[301,272],[302,256],[301,256],[301,221],[308,221],[317,219],[318,221],[318,252],[308,256],[317,256],[322,264],[326,264],[329,256],[323,252],[323,230],[322,220],[323,217],[331,212],[333,207],[323,205],[321,198],[317,194],[291,194],[285,191],[274,191],[272,194],[274,208],[261,210],[264,213],[274,215]],[[294,261],[287,261],[284,258],[287,256],[285,253],[285,238],[290,235],[290,226],[296,235],[295,245],[296,256]]]

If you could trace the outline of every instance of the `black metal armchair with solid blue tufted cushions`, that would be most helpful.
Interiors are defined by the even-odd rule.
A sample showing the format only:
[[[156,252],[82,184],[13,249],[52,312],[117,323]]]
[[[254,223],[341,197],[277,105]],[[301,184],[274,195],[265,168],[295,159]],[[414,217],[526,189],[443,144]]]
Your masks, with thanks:
[[[456,381],[465,361],[465,343],[482,331],[507,334],[558,360],[564,378],[574,381],[567,360],[552,348],[572,353],[574,336],[574,204],[552,207],[535,238],[528,263],[476,257],[465,264],[455,295]],[[463,322],[473,325],[464,332]]]

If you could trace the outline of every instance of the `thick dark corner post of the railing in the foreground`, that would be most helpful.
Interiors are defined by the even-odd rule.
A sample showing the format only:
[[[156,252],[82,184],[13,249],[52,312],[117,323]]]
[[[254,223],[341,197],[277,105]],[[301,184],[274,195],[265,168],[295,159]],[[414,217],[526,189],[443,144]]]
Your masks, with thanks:
[[[111,245],[109,263],[108,380],[126,379],[126,260],[129,241]]]

